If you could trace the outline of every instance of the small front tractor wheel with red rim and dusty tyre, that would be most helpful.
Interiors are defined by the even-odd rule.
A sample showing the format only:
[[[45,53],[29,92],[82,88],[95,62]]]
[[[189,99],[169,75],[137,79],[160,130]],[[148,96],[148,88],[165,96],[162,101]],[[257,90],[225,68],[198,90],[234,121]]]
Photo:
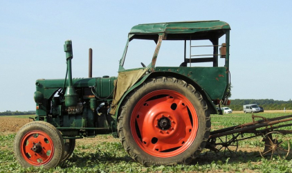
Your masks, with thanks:
[[[15,136],[15,158],[24,167],[56,167],[63,158],[63,148],[60,131],[48,122],[29,122]]]

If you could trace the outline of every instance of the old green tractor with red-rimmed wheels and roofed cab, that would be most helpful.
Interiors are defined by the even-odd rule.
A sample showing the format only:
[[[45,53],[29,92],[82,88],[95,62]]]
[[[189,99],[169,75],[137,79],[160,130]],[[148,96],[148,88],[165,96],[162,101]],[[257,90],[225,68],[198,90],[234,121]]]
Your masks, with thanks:
[[[36,117],[17,132],[17,161],[56,167],[71,156],[77,138],[112,134],[143,165],[190,163],[206,147],[210,114],[229,103],[229,35],[224,21],[139,24],[129,33],[118,77],[102,78],[72,78],[72,42],[66,41],[66,77],[35,82]],[[146,51],[128,59],[134,40],[154,44],[147,65],[140,59]],[[178,45],[171,51],[180,57],[161,58],[179,64],[159,66],[158,53],[169,43]],[[141,65],[127,69],[127,61]]]

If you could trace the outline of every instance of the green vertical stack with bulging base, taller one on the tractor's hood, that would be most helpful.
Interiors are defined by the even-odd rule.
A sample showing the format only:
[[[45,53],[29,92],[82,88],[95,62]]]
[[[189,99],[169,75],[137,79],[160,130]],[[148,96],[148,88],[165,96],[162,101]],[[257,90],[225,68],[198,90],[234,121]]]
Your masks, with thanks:
[[[64,44],[64,51],[66,53],[66,61],[67,61],[67,73],[68,73],[68,86],[65,92],[65,106],[66,107],[75,107],[77,105],[77,93],[72,84],[72,65],[71,60],[73,58],[72,51],[72,42],[71,40],[67,40]],[[66,80],[66,79],[65,79]]]

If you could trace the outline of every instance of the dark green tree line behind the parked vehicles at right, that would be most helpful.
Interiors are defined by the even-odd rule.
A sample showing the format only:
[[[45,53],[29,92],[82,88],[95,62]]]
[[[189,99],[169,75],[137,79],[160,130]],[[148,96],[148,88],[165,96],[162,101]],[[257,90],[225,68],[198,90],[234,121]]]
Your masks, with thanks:
[[[244,104],[257,104],[259,107],[263,107],[264,110],[286,110],[292,109],[292,100],[282,101],[273,99],[235,99],[230,100],[230,109],[234,111],[243,111]]]

